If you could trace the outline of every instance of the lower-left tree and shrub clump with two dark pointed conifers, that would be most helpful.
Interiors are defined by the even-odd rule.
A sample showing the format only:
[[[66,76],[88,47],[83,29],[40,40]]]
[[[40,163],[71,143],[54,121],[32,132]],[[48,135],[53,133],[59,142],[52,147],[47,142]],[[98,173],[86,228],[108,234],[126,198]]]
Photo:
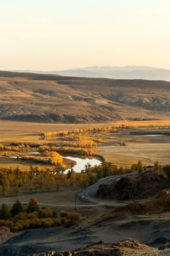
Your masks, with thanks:
[[[9,227],[13,232],[35,227],[57,227],[74,225],[81,219],[76,211],[61,211],[57,214],[51,208],[40,208],[31,197],[26,208],[17,200],[12,208],[2,204],[0,208],[0,227]]]

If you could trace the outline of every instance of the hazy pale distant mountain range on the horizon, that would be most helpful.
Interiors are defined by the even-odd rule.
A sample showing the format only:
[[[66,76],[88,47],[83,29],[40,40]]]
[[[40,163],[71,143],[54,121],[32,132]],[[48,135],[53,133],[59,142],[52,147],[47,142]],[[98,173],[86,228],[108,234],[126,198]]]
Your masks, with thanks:
[[[17,72],[34,72],[85,78],[112,79],[144,79],[170,81],[170,70],[155,67],[126,66],[126,67],[84,67],[58,71],[14,70]]]

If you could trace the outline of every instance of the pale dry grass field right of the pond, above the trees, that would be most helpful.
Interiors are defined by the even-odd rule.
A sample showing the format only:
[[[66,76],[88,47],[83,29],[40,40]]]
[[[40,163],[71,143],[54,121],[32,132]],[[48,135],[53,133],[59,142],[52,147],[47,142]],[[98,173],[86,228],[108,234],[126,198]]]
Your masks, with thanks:
[[[131,166],[141,160],[145,165],[156,161],[163,165],[170,163],[169,143],[129,143],[128,146],[107,146],[95,148],[107,161],[119,166]]]

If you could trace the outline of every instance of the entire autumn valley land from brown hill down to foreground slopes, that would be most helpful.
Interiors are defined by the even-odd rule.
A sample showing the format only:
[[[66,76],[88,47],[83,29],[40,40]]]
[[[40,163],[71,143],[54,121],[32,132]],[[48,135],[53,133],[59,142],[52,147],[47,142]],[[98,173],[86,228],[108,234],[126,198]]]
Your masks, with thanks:
[[[0,93],[0,253],[169,243],[168,82],[1,72]]]

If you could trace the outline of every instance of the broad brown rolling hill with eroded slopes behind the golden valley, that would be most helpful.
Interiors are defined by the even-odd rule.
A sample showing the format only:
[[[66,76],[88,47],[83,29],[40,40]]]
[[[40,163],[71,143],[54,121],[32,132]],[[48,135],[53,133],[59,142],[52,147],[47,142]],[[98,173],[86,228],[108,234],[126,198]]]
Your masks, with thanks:
[[[170,83],[0,72],[0,118],[38,122],[104,122],[169,118]]]

